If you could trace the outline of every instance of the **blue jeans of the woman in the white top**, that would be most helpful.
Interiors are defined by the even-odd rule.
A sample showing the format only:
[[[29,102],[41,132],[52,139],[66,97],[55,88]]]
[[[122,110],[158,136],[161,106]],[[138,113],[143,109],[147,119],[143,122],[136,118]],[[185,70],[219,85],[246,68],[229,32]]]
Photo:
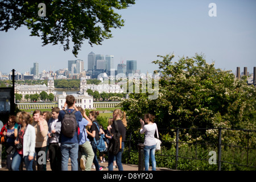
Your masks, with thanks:
[[[152,171],[156,170],[155,147],[156,147],[156,145],[154,145],[154,146],[144,146],[145,171],[148,171],[149,158],[151,158],[151,162],[152,162]]]

